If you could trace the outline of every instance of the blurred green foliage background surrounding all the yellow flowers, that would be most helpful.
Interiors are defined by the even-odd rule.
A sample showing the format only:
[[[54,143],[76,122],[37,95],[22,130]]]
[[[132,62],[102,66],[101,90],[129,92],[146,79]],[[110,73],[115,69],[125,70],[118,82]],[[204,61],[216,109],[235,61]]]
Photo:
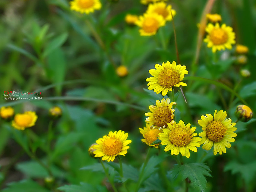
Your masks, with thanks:
[[[107,190],[103,173],[80,168],[97,162],[88,155],[88,148],[109,131],[121,129],[129,133],[131,148],[122,159],[136,168],[141,166],[148,146],[140,141],[139,127],[145,126],[144,113],[148,112],[148,106],[162,98],[147,89],[148,70],[154,69],[156,63],[177,61],[172,22],[167,22],[155,36],[142,37],[138,27],[127,25],[124,18],[127,13],[142,15],[147,8],[145,5],[128,0],[101,2],[102,9],[82,15],[71,11],[66,0],[0,1],[0,91],[36,91],[42,96],[42,100],[34,101],[6,101],[1,97],[0,106],[13,106],[16,113],[36,111],[38,121],[31,128],[31,134],[36,133],[34,147],[42,159],[50,121],[48,110],[55,105],[63,110],[61,119],[53,124],[51,169],[55,188],[77,185],[80,190]],[[197,120],[206,113],[213,114],[215,109],[226,110],[228,117],[236,121],[234,112],[242,102],[227,87],[256,111],[256,1],[216,0],[211,11],[222,16],[222,23],[233,27],[238,44],[249,48],[246,65],[236,64],[235,46],[232,50],[217,52],[220,59],[213,62],[212,51],[205,43],[195,63],[197,23],[206,2],[168,1],[177,11],[174,23],[179,56],[181,64],[189,71],[184,79],[187,86],[183,87],[187,105],[180,90],[175,89],[175,121],[191,123],[197,127],[197,133],[201,132]],[[95,33],[104,48],[97,43]],[[127,67],[126,77],[116,74],[115,68],[119,65]],[[248,69],[251,76],[241,77],[240,69]],[[213,177],[207,177],[207,191],[255,191],[255,125],[255,118],[247,123],[239,121],[236,142],[226,154],[213,156],[210,150],[200,159],[202,148],[197,153],[191,152],[186,162],[207,163],[212,171]],[[49,191],[51,187],[44,181],[47,172],[24,154],[13,140],[11,129],[10,123],[1,121],[1,188],[6,192]],[[22,132],[16,133],[26,142]],[[158,150],[151,151],[158,153]],[[163,150],[159,158],[166,171],[175,164]],[[150,183],[150,178],[145,182]],[[170,183],[173,191],[182,191],[181,179],[170,179]],[[161,182],[156,182],[155,186],[157,184]],[[164,191],[161,186],[157,189]],[[193,186],[189,189],[197,190]],[[65,188],[65,191],[69,190]],[[148,189],[145,187],[144,191]]]

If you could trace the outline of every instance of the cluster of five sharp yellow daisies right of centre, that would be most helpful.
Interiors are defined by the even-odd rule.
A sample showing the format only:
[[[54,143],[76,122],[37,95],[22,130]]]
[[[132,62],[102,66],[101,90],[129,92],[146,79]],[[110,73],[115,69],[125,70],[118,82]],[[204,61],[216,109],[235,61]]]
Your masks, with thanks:
[[[173,61],[170,64],[169,61],[155,65],[156,69],[150,69],[149,73],[153,76],[146,81],[148,83],[148,89],[154,89],[154,92],[159,94],[162,91],[162,95],[166,95],[168,91],[172,91],[173,86],[186,86],[181,82],[184,75],[188,72],[185,70],[186,66],[176,65]],[[144,129],[139,128],[144,139],[141,141],[158,148],[159,144],[153,144],[158,137],[161,140],[162,145],[166,145],[165,151],[171,150],[171,154],[177,155],[179,152],[182,156],[189,158],[190,152],[197,152],[196,147],[200,147],[203,144],[203,148],[210,150],[213,146],[213,153],[216,155],[218,152],[226,153],[226,147],[230,148],[230,142],[234,142],[236,137],[236,123],[232,123],[231,119],[226,119],[227,113],[222,110],[215,110],[214,116],[206,114],[201,116],[198,120],[199,125],[202,127],[203,132],[199,133],[199,136],[195,137],[195,127],[191,127],[191,124],[184,124],[183,121],[176,123],[174,121],[175,109],[172,109],[175,102],[170,102],[169,98],[156,101],[156,106],[150,105],[149,110],[151,112],[145,113],[146,127]]]

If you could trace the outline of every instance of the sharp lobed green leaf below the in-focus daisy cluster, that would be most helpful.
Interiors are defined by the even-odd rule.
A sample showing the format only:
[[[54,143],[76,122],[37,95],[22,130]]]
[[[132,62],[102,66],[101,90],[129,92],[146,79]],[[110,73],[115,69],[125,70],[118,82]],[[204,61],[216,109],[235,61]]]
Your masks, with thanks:
[[[189,178],[194,187],[198,187],[204,192],[207,188],[205,176],[212,177],[209,172],[210,168],[203,163],[189,163],[174,166],[172,169],[172,176],[176,177],[180,174],[183,180]]]

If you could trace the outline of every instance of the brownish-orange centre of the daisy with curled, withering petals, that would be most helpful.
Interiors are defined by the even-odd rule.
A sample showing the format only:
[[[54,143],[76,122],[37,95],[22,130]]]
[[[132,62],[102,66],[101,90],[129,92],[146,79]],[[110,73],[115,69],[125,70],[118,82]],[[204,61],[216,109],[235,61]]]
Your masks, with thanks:
[[[168,107],[158,107],[153,113],[154,125],[157,127],[167,126],[173,120],[174,114]]]

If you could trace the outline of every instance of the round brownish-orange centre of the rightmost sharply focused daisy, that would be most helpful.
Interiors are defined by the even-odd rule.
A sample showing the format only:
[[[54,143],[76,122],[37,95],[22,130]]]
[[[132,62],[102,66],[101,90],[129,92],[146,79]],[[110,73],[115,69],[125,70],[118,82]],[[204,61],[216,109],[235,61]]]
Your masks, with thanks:
[[[206,136],[214,142],[219,142],[226,135],[227,128],[220,121],[211,121],[206,128]]]

